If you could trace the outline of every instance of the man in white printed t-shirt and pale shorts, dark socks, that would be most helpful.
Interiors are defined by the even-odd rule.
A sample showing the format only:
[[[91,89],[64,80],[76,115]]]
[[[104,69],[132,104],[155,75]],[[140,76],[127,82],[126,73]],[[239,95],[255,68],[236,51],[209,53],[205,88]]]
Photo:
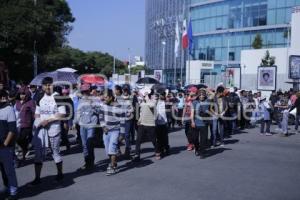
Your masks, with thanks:
[[[60,155],[61,120],[66,114],[65,106],[61,105],[57,95],[53,93],[53,79],[45,77],[42,81],[44,96],[37,101],[35,111],[35,135],[33,145],[35,150],[35,179],[30,183],[35,186],[41,183],[41,171],[47,148],[51,148],[56,164],[56,182],[63,180],[63,161]]]

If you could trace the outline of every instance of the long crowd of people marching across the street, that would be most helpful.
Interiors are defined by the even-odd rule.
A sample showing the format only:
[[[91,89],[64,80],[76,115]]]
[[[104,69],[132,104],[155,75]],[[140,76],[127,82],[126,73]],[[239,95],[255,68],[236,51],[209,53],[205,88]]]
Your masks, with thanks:
[[[260,124],[260,134],[272,136],[276,122],[282,136],[288,136],[290,112],[295,114],[295,130],[300,118],[300,94],[294,91],[260,92],[226,89],[215,90],[190,86],[174,94],[166,90],[140,93],[129,85],[113,88],[82,83],[76,87],[54,86],[46,77],[42,87],[21,85],[8,90],[0,83],[0,169],[8,199],[17,199],[15,164],[34,152],[35,178],[28,186],[41,183],[41,170],[47,154],[56,164],[59,184],[64,179],[61,145],[71,145],[69,130],[77,133],[82,146],[84,165],[78,171],[95,166],[95,138],[102,136],[110,162],[106,175],[118,173],[118,159],[141,160],[141,145],[151,141],[155,159],[170,154],[169,132],[183,128],[187,151],[201,159],[211,148],[223,147],[226,138],[239,130]],[[121,151],[121,146],[125,151]],[[131,149],[135,145],[134,151]],[[19,151],[20,150],[20,151]]]

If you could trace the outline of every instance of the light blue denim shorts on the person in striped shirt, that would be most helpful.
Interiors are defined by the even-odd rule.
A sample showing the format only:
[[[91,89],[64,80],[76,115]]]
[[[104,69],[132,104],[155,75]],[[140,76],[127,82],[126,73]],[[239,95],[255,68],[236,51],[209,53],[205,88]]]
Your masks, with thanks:
[[[107,133],[103,133],[103,142],[105,146],[105,152],[108,156],[116,155],[118,153],[120,131],[112,130]]]

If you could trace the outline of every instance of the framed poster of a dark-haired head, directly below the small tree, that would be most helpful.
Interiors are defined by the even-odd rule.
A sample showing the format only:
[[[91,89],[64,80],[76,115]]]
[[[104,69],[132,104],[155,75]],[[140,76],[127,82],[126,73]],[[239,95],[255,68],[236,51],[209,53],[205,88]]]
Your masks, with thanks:
[[[258,90],[276,90],[277,67],[258,67],[257,71],[257,89]]]

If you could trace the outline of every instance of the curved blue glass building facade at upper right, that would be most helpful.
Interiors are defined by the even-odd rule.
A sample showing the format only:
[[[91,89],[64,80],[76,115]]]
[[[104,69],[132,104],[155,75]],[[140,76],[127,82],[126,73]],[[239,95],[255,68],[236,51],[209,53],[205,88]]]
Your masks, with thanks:
[[[186,18],[193,26],[191,59],[214,61],[216,71],[227,64],[240,67],[241,51],[253,48],[257,34],[262,48],[287,46],[292,8],[298,5],[300,0],[190,0]],[[146,60],[149,48],[146,42]]]

